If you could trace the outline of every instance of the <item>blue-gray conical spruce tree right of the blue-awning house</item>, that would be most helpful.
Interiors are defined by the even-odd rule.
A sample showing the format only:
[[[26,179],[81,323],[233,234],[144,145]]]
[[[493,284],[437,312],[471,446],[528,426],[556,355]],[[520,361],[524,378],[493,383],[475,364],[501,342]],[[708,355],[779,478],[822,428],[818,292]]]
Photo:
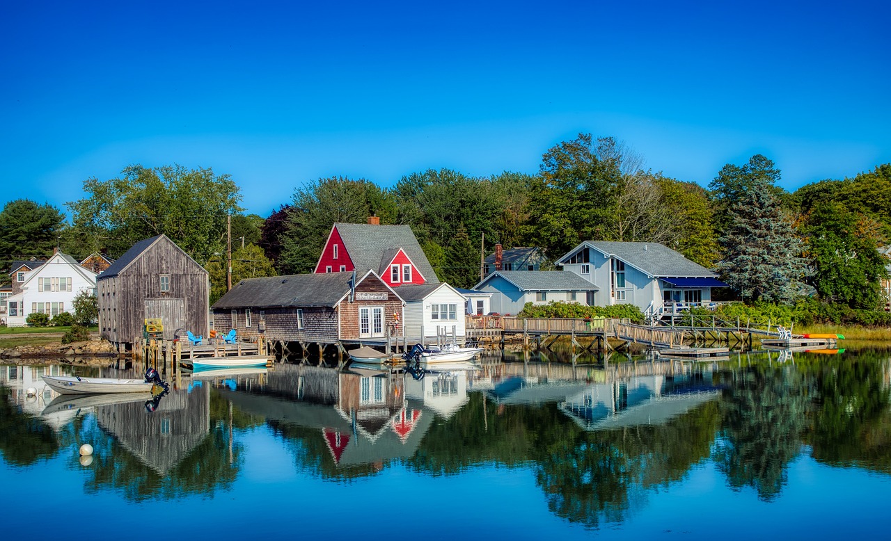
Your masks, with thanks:
[[[753,182],[728,211],[721,238],[723,280],[745,301],[789,303],[802,291],[806,266],[797,238],[769,181]]]

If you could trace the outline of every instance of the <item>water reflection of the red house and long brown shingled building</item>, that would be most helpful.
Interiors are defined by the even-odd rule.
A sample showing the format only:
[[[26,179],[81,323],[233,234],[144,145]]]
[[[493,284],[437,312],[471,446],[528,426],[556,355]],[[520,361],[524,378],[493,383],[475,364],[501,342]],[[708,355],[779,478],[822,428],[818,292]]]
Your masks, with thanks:
[[[318,431],[337,466],[413,456],[432,418],[405,399],[401,375],[380,370],[282,364],[269,373],[262,393],[218,392],[266,422]]]

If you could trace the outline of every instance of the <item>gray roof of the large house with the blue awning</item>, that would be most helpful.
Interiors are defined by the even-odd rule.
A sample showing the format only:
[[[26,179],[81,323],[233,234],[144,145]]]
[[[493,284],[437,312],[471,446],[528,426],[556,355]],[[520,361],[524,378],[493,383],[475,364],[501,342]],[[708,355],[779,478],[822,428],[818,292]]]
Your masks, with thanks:
[[[584,246],[592,247],[603,254],[611,255],[624,261],[651,277],[716,277],[699,263],[689,259],[668,246],[658,242],[610,242],[605,240],[586,240],[560,257],[562,263],[570,255]]]

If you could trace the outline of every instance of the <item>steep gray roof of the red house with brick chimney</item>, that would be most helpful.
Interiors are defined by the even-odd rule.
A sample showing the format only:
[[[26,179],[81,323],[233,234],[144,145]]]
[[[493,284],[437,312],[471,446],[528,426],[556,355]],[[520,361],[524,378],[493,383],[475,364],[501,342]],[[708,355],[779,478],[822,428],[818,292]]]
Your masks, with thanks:
[[[407,225],[370,225],[368,223],[335,223],[347,254],[359,274],[365,271],[384,272],[383,266],[392,261],[396,250],[402,248],[427,283],[438,283],[427,256],[421,250],[412,228]],[[386,260],[386,261],[385,261]]]

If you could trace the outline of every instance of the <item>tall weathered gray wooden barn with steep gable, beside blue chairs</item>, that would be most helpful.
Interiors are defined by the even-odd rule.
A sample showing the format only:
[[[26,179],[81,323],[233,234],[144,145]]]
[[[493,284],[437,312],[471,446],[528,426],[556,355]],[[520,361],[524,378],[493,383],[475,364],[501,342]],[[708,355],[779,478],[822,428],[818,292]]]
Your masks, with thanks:
[[[165,235],[133,245],[96,287],[100,335],[119,348],[143,339],[145,319],[161,319],[165,340],[208,334],[208,271]]]

